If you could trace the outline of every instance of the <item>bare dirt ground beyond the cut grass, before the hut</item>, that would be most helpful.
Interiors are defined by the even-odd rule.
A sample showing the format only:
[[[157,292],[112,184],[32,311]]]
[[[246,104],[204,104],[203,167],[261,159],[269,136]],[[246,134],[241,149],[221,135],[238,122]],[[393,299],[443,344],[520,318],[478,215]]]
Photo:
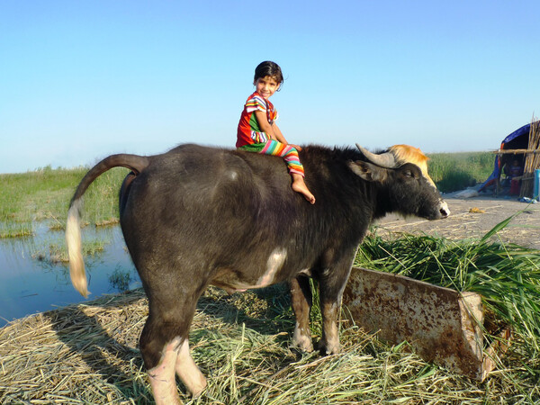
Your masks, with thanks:
[[[496,198],[491,194],[473,198],[456,198],[456,193],[444,195],[451,214],[444,220],[403,219],[399,215],[387,215],[378,220],[378,232],[388,230],[407,233],[427,233],[450,239],[482,238],[501,220],[518,211],[506,229],[493,237],[505,243],[512,242],[525,247],[540,249],[540,203],[518,202],[517,198]]]

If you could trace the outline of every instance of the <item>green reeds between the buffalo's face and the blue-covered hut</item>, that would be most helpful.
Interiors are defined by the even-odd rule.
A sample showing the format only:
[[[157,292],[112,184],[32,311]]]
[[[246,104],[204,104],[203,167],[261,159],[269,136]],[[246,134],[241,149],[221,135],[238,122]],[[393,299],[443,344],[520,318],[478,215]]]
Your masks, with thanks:
[[[441,193],[464,190],[485,181],[493,171],[491,152],[428,154],[429,175]]]

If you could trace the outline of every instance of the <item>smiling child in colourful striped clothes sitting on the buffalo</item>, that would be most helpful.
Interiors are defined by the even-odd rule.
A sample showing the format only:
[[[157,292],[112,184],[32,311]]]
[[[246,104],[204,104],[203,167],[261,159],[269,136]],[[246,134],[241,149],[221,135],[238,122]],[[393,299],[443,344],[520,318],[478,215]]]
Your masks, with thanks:
[[[277,112],[268,100],[284,83],[281,68],[274,62],[266,61],[255,69],[253,84],[256,91],[247,98],[244,111],[238,122],[236,147],[249,152],[283,157],[289,174],[293,177],[291,187],[296,193],[315,203],[315,197],[304,183],[304,171],[298,150],[302,148],[289,144],[275,124]]]

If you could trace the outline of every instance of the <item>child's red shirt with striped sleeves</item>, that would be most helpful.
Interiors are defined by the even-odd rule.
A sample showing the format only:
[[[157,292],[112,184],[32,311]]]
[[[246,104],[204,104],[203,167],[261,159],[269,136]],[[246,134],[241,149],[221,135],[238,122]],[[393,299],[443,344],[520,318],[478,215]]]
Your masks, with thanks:
[[[238,121],[237,148],[255,143],[265,143],[270,140],[270,136],[259,127],[257,117],[255,116],[257,110],[266,112],[266,118],[270,124],[277,120],[277,112],[275,111],[274,104],[270,103],[269,100],[265,100],[257,92],[251,94],[247,97],[244,110],[240,115],[240,121]]]

